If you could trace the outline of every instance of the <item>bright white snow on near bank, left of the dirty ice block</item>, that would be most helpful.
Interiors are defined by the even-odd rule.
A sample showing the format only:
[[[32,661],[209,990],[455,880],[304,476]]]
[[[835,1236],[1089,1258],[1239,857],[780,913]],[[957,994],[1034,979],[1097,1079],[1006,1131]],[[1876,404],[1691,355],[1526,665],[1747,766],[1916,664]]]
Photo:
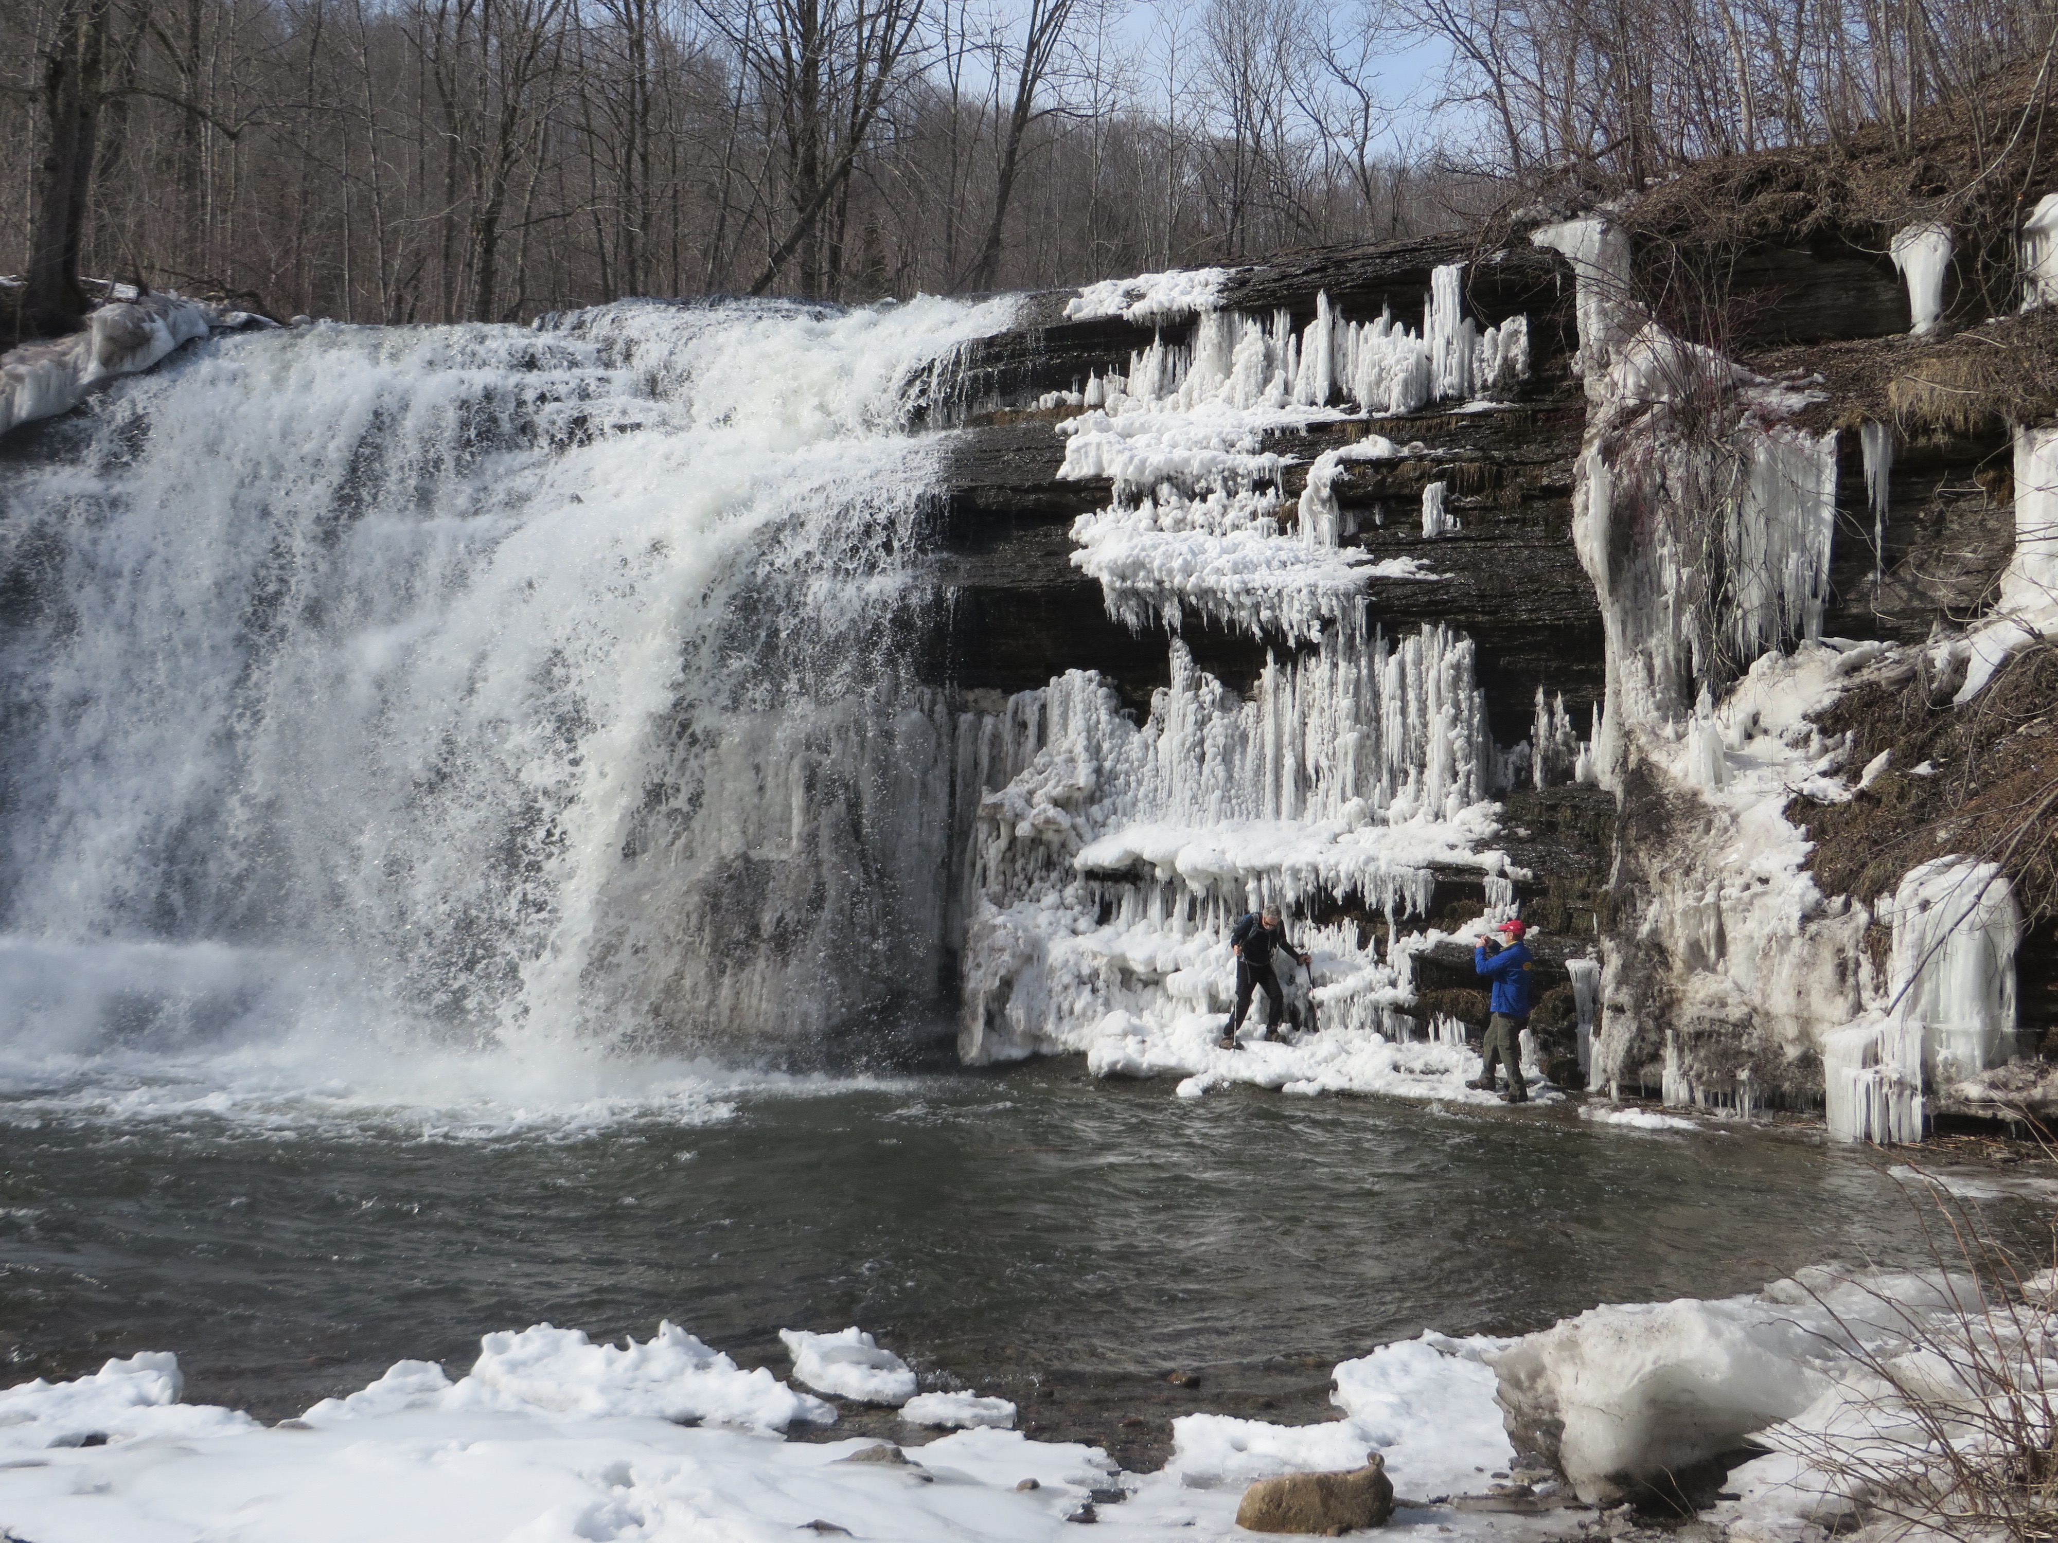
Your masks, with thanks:
[[[1354,1467],[1381,1448],[1401,1492],[1426,1496],[1484,1490],[1509,1459],[1480,1360],[1496,1341],[1484,1339],[1424,1335],[1346,1362],[1340,1422],[1179,1420],[1173,1463],[1152,1475],[992,1426],[908,1446],[906,1463],[850,1461],[879,1448],[866,1438],[780,1440],[755,1415],[681,1426],[659,1411],[704,1401],[696,1385],[712,1366],[685,1350],[698,1343],[679,1329],[628,1352],[556,1329],[488,1335],[482,1364],[521,1360],[519,1393],[477,1368],[453,1385],[440,1366],[399,1362],[276,1428],[179,1403],[169,1354],[109,1362],[76,1383],[0,1391],[0,1512],[35,1543],[772,1543],[811,1527],[893,1543],[1056,1543],[1101,1492],[1105,1537],[1229,1539],[1249,1477]],[[696,1391],[667,1391],[667,1378]],[[922,1399],[959,1413],[1002,1403]],[[1554,1531],[1443,1510],[1406,1510],[1393,1531],[1426,1541],[1453,1522],[1467,1537]],[[1572,1533],[1570,1514],[1556,1533]]]

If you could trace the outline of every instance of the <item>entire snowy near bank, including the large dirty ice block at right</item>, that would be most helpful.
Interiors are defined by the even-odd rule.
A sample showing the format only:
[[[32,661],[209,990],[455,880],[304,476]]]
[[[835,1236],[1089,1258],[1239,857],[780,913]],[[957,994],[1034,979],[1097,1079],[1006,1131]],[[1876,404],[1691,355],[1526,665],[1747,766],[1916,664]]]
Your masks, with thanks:
[[[866,1438],[782,1440],[772,1426],[817,1401],[770,1372],[739,1372],[671,1325],[626,1348],[549,1327],[488,1335],[457,1383],[432,1362],[399,1362],[274,1428],[181,1403],[177,1358],[142,1354],[74,1383],[0,1391],[0,1516],[35,1543],[772,1543],[803,1529],[1056,1543],[1099,1494],[1107,1537],[1229,1539],[1251,1481],[1379,1452],[1410,1502],[1393,1531],[1424,1543],[1593,1527],[1578,1506],[1515,1516],[1439,1504],[1511,1477],[1519,1430],[1603,1504],[1626,1475],[1760,1440],[1772,1455],[1729,1477],[1714,1520],[1799,1543],[1850,1510],[1848,1483],[1823,1471],[1825,1446],[1918,1463],[1926,1438],[1906,1393],[1970,1397],[1941,1356],[1978,1348],[2013,1387],[2042,1389],[2054,1323],[2031,1302],[1980,1300],[1959,1276],[1815,1267],[1725,1300],[1599,1306],[1521,1339],[1381,1345],[1336,1366],[1340,1418],[1179,1415],[1171,1461],[1144,1475],[1099,1448],[996,1426],[897,1459]],[[1900,1389],[1879,1366],[1895,1368]],[[1004,1401],[943,1393],[912,1405],[955,1422]],[[714,1413],[681,1424],[694,1409]]]

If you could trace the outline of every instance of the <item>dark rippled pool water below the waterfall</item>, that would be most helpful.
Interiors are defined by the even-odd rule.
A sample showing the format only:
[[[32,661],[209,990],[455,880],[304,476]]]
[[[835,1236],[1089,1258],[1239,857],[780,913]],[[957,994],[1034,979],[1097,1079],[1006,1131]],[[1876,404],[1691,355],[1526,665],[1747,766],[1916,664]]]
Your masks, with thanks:
[[[0,1119],[8,1380],[177,1350],[189,1399],[265,1415],[403,1356],[457,1372],[480,1333],[537,1321],[671,1317],[780,1374],[780,1327],[858,1323],[1138,1459],[1194,1407],[1321,1418],[1336,1360],[1426,1327],[1517,1333],[1920,1251],[1920,1208],[1809,1140],[1196,1103],[1076,1062],[455,1142],[21,1099]]]

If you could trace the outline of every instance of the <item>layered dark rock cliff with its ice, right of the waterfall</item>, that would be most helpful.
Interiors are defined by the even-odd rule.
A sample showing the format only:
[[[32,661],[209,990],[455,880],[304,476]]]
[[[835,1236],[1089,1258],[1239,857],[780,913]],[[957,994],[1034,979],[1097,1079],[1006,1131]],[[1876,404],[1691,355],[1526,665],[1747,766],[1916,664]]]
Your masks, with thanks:
[[[1910,786],[1906,772],[1941,788],[1988,753],[1951,741],[1935,780],[1918,765],[1947,720],[1978,710],[1949,695],[2019,570],[2011,411],[1908,411],[1904,387],[1951,346],[1906,335],[1908,288],[1850,241],[1733,253],[1725,358],[1640,300],[1636,251],[1601,222],[1498,235],[1494,249],[1280,257],[1220,276],[1198,311],[1167,313],[1148,280],[1037,296],[1025,325],[955,362],[936,401],[963,424],[941,516],[941,669],[961,741],[986,755],[971,769],[961,751],[984,798],[973,811],[967,794],[961,817],[961,1051],[1072,1047],[1101,1070],[1204,1082],[1216,1072],[1187,1018],[1227,1006],[1220,934],[1257,899],[1284,901],[1327,948],[1313,992],[1325,1022],[1453,1043],[1436,1025],[1484,1020],[1471,940],[1519,907],[1541,928],[1533,1029],[1562,1080],[1578,1062],[1679,1103],[1821,1107],[1848,1082],[1846,1101],[1891,1084],[1926,1088],[1930,1113],[1976,1107],[1965,1078],[2042,1037],[2052,924],[2033,913],[2021,938],[2013,1039],[1988,1035],[1970,1062],[1939,1064],[1932,1047],[1924,1070],[1893,1033],[1879,1047],[1877,1020],[1910,985],[1887,965],[1893,889],[1945,852],[1988,854],[1932,833],[1943,804],[1904,819],[1900,846],[1869,864],[1850,848],[1877,827],[1877,788]],[[2039,327],[1972,344],[2035,352]],[[1445,368],[1453,329],[1457,354],[1476,350],[1465,379]],[[1517,329],[1521,368],[1504,352]],[[1391,335],[1422,339],[1426,385],[1387,395],[1391,360],[1364,385]],[[1167,352],[1181,374],[1157,374]],[[1274,582],[1288,558],[1299,611]],[[1332,580],[1348,603],[1309,599]],[[1340,642],[1354,627],[1461,648],[1476,743],[1445,732],[1375,792],[1352,757],[1379,714],[1406,708],[1280,716],[1282,691],[1305,695],[1313,673],[1387,669],[1377,644]],[[1924,648],[1932,634],[1961,640]],[[1058,722],[1080,712],[1054,697],[1068,673],[1107,693],[1101,739]],[[2011,730],[2054,706],[2031,677],[1986,697],[2004,687]],[[1906,728],[1852,722],[1854,702]],[[1286,765],[1299,802],[1225,806],[1216,765],[1239,763],[1208,734],[1237,712],[1272,737],[1270,759],[1241,765],[1259,780]],[[1179,739],[1181,714],[1206,722]],[[1138,755],[1124,732],[1148,767],[1115,769]],[[1887,784],[1871,763],[1895,745]],[[1187,784],[1169,765],[1181,755]],[[1492,811],[1463,815],[1463,839],[1459,794],[1424,811],[1401,788],[1439,755],[1476,761],[1463,800]],[[2021,778],[2025,796],[2044,786]],[[1350,796],[1323,804],[1329,786]],[[1344,835],[1315,839],[1325,819]],[[1434,841],[1395,835],[1424,819],[1445,821]],[[1364,850],[1342,860],[1325,841]],[[1568,959],[1605,965],[1605,983],[1576,990]],[[1171,1053],[1181,1022],[1192,1045]],[[1838,1033],[1871,1033],[1871,1047],[1838,1051]]]

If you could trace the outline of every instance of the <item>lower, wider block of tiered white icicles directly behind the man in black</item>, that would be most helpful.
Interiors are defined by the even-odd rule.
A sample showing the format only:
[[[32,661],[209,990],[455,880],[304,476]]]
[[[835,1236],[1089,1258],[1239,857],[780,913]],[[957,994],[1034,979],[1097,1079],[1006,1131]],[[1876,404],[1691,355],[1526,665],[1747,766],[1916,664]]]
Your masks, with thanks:
[[[1389,644],[1358,611],[1249,702],[1173,642],[1142,726],[1074,673],[973,739],[965,776],[996,792],[969,848],[967,1062],[1087,1049],[1117,1010],[1142,1033],[1218,1012],[1227,928],[1259,899],[1358,897],[1391,932],[1426,905],[1430,864],[1504,864],[1478,852],[1496,761],[1471,644],[1441,627]],[[1377,1029],[1408,998],[1354,926],[1309,940],[1325,1027]]]

